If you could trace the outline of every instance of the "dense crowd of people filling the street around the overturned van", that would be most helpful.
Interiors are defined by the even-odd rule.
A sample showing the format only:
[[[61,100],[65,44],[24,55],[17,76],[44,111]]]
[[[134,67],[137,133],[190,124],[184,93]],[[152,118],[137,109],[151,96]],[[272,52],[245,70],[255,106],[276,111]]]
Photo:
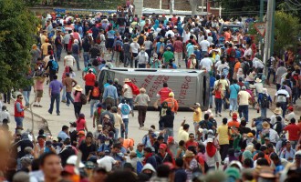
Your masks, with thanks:
[[[6,107],[0,112],[1,133],[7,136],[0,137],[2,179],[297,181],[301,177],[301,119],[294,110],[301,76],[294,52],[287,49],[285,55],[274,54],[264,64],[255,37],[248,34],[241,18],[230,22],[198,15],[138,17],[132,11],[128,1],[126,8],[119,7],[111,16],[51,14],[42,18],[28,74],[35,79],[33,106],[42,107],[44,86],[49,84],[47,112],[52,114],[56,103],[59,116],[63,102],[73,106],[77,120],[62,126],[57,136],[47,136],[43,129],[37,136],[25,130],[23,119],[32,86],[23,88],[22,95],[16,96],[13,136],[8,131],[11,119]],[[242,26],[220,30],[229,24]],[[63,57],[64,52],[67,56]],[[164,83],[157,92],[160,120],[145,128],[150,106],[146,88],[135,86],[130,78],[124,78],[123,85],[115,78],[100,86],[99,72],[111,66],[204,70],[210,75],[210,108],[202,111],[200,103],[195,103],[190,107],[193,126],[183,119],[175,135],[173,121],[179,116],[179,105],[172,92],[175,88]],[[84,86],[78,84],[76,70]],[[268,92],[272,83],[275,96]],[[6,101],[10,102],[10,93],[5,94]],[[88,130],[87,116],[81,111],[86,105],[95,131]],[[222,113],[222,107],[229,115]],[[252,107],[257,116],[249,116]],[[148,130],[140,141],[129,137],[134,108],[141,131]]]

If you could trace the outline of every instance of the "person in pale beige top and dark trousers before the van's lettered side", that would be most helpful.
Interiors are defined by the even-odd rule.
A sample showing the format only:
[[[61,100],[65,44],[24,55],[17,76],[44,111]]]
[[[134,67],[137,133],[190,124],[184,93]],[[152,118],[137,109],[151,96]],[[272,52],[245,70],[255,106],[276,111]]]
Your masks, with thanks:
[[[150,104],[150,96],[146,94],[145,88],[140,88],[140,94],[135,97],[134,105],[138,109],[138,123],[140,127],[144,126],[146,111]]]

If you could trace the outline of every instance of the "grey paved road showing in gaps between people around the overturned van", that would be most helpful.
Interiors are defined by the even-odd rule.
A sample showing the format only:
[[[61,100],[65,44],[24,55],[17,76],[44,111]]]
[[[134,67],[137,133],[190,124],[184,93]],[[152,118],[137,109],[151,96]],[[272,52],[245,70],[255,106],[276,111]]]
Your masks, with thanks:
[[[66,55],[66,53],[63,53],[62,57],[64,57],[65,55]],[[59,62],[59,66],[60,66],[60,70],[58,73],[58,78],[61,79],[62,72],[63,72],[63,61]],[[84,66],[82,58],[80,60],[80,66],[81,66],[81,68],[83,68],[83,66]],[[76,71],[76,75],[77,76],[75,79],[78,81],[78,84],[83,87],[84,81],[82,80],[81,72]],[[275,89],[271,88],[271,89],[269,89],[269,92],[275,93]],[[32,101],[32,99],[34,97],[35,97],[34,92],[31,92],[30,100]],[[46,85],[44,88],[44,97],[42,98],[41,105],[43,107],[33,107],[33,112],[36,113],[36,115],[42,116],[43,118],[45,118],[47,120],[48,128],[50,129],[51,134],[53,136],[57,136],[58,132],[61,130],[61,127],[63,125],[69,126],[69,122],[76,121],[76,117],[74,115],[74,109],[73,109],[72,105],[66,106],[65,103],[60,103],[60,116],[57,116],[55,114],[55,112],[53,115],[50,115],[47,112],[47,109],[49,108],[49,105],[50,105],[50,97],[48,96],[48,85]],[[8,109],[9,109],[10,113],[13,114],[13,112],[14,112],[13,104],[8,106]],[[88,123],[88,130],[94,132],[95,128],[93,128],[93,125],[92,125],[92,118],[89,117],[89,105],[83,106],[81,112],[86,115],[86,119],[87,119],[87,123]],[[272,112],[268,111],[267,115],[269,116],[271,114],[272,114]],[[29,115],[30,115],[30,113],[26,112],[26,116],[29,116]],[[256,113],[256,110],[250,107],[249,118],[252,119],[257,116],[259,116],[259,114]],[[138,117],[138,114],[136,111],[136,115],[134,117],[130,116],[130,123],[129,123],[129,137],[134,138],[136,143],[140,142],[142,136],[144,136],[147,133],[146,130],[139,129],[137,117]],[[193,131],[194,131],[193,124],[192,124],[192,112],[179,112],[175,116],[174,127],[173,127],[174,128],[174,136],[176,139],[178,136],[177,135],[178,129],[180,128],[183,117],[186,117],[187,123],[191,125],[190,132],[193,133]],[[228,111],[223,111],[222,117],[216,118],[218,125],[221,125],[223,117],[229,117]],[[146,118],[147,119],[146,119],[145,127],[150,128],[150,125],[155,125],[156,127],[158,127],[159,112],[149,111],[149,112],[147,112]],[[15,120],[13,117],[12,117],[12,119],[13,119],[13,121],[11,122],[10,127],[14,128],[14,127],[16,127],[16,123],[15,123]],[[24,124],[25,128],[31,128],[30,118],[26,118],[24,123],[25,123]],[[35,131],[37,131],[40,126],[43,126],[43,123],[40,118],[36,119],[35,124],[36,124]],[[250,126],[250,122],[248,125]]]

